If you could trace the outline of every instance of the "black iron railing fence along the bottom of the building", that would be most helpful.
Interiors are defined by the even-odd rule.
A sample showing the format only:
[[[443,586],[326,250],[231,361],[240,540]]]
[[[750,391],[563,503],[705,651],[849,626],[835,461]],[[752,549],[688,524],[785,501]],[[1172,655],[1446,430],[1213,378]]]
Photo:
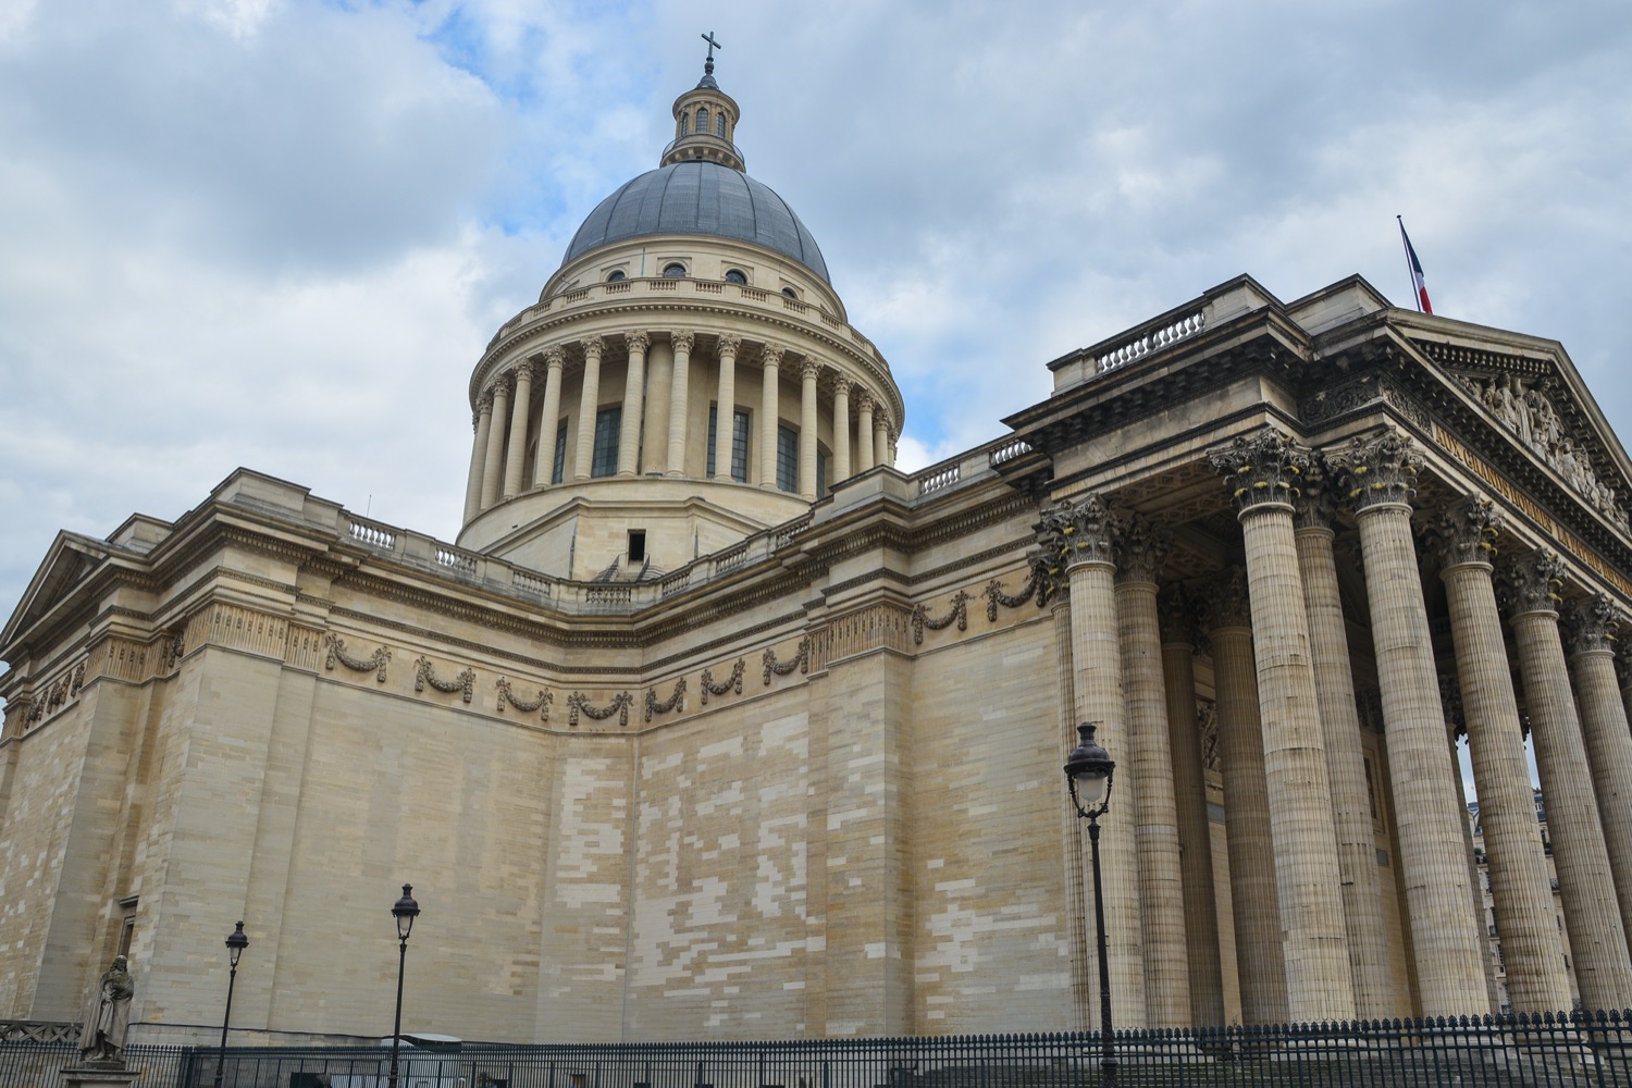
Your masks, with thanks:
[[[1632,1015],[1116,1034],[1144,1086],[1632,1088]],[[57,1088],[69,1042],[0,1041],[0,1088]],[[132,1046],[137,1088],[212,1088],[212,1047]],[[232,1047],[225,1088],[390,1088],[388,1047]],[[1093,1033],[405,1049],[398,1088],[1093,1088]]]

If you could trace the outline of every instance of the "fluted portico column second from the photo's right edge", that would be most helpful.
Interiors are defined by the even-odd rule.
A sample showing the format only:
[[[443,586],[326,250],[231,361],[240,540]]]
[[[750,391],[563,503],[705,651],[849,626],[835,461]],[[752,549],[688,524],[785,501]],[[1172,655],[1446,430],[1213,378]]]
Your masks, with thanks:
[[[1516,563],[1506,577],[1510,621],[1581,1006],[1590,1011],[1632,1008],[1625,928],[1559,639],[1554,602],[1562,577],[1563,564],[1550,551],[1536,551]]]

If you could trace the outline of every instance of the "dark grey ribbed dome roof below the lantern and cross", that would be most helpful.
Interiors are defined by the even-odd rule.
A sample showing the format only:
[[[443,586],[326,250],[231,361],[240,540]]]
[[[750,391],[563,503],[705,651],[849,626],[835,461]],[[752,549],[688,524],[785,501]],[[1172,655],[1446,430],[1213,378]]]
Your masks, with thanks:
[[[607,243],[645,235],[713,235],[752,241],[832,282],[816,238],[787,201],[739,170],[710,161],[659,166],[601,201],[573,235],[561,264]]]

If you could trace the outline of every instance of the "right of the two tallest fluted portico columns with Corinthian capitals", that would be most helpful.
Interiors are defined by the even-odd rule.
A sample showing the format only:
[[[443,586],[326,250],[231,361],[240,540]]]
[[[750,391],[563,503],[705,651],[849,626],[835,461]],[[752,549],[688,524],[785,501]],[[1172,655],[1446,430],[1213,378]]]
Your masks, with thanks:
[[[1392,431],[1356,437],[1327,455],[1359,522],[1371,638],[1382,688],[1412,951],[1426,1016],[1490,1011],[1483,918],[1472,913],[1462,798],[1448,789],[1439,674],[1428,631],[1412,506],[1418,458]]]

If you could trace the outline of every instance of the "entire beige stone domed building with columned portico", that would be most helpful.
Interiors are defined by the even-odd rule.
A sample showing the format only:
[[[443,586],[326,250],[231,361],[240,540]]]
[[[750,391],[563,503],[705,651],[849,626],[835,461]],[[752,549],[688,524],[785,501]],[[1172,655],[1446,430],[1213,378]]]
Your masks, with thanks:
[[[0,633],[0,1013],[150,1039],[1074,1029],[1632,1006],[1632,463],[1560,344],[1239,277],[904,418],[712,73],[470,382],[455,542],[237,471]]]

